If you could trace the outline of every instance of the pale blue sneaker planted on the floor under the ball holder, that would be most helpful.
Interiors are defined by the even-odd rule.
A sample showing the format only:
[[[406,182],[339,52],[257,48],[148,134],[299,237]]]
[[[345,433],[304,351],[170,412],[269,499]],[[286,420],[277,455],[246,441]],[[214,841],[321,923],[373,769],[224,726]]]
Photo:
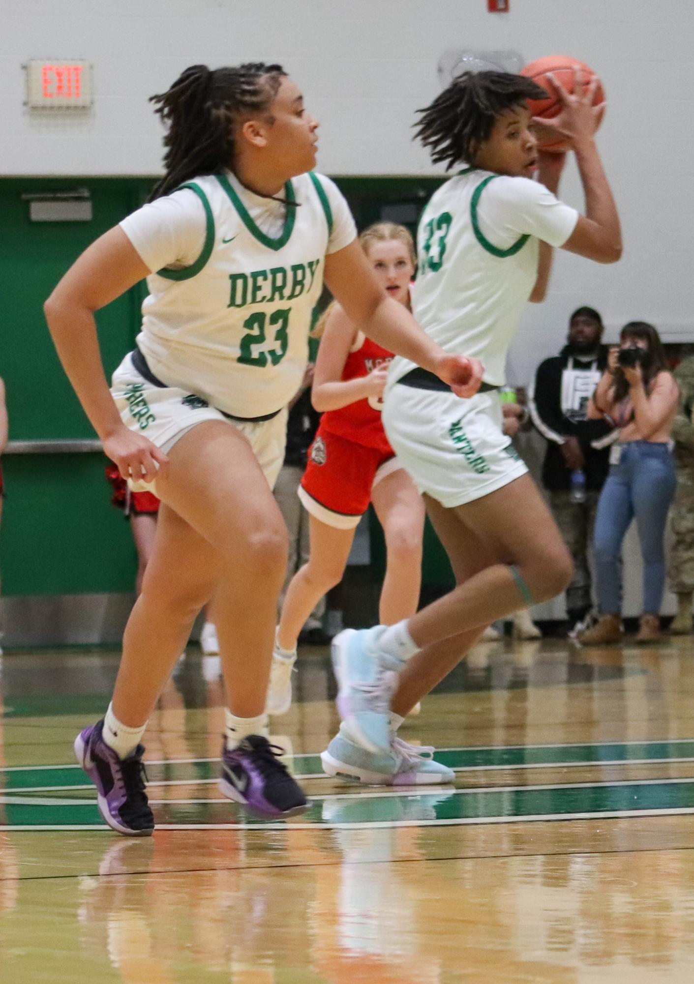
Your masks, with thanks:
[[[321,754],[323,771],[369,786],[440,785],[453,782],[455,773],[433,760],[433,748],[410,745],[397,736],[389,755],[374,755],[355,745],[344,725]]]

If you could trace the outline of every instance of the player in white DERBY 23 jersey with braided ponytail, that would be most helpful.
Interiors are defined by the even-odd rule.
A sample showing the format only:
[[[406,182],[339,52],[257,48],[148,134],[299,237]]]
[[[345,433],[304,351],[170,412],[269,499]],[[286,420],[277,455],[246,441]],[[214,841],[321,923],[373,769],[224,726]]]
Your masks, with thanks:
[[[481,364],[447,354],[387,296],[337,187],[312,168],[318,122],[279,65],[196,65],[154,97],[167,127],[153,201],[100,237],[45,311],[106,455],[161,500],[105,718],[76,739],[114,830],[147,835],[141,738],[195,615],[214,596],[227,691],[221,791],[266,817],[306,799],[264,737],[286,529],[272,495],[323,279],[347,316],[471,396]],[[142,331],[103,375],[95,311],[147,277]]]

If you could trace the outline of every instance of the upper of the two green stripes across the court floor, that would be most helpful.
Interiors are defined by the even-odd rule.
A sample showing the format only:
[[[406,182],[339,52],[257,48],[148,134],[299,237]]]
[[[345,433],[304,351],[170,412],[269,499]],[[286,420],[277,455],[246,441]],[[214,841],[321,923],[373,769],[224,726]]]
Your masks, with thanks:
[[[489,748],[440,749],[434,755],[450,769],[548,769],[553,766],[615,766],[620,764],[656,764],[694,761],[694,740],[648,742],[603,742],[583,745],[513,745]],[[300,763],[299,777],[321,774],[320,756],[296,755]],[[153,782],[214,779],[219,769],[218,759],[196,759],[189,762],[147,763]],[[65,785],[90,785],[89,777],[79,766],[10,767],[0,770],[4,788],[32,789],[37,786],[53,789]]]

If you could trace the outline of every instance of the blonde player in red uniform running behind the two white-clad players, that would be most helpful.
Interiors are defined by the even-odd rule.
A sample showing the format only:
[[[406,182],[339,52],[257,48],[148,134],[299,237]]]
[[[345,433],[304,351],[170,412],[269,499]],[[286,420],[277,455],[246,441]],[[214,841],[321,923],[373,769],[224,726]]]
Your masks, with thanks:
[[[386,291],[410,307],[414,245],[409,230],[377,222],[359,236]],[[393,353],[365,338],[339,304],[325,313],[312,400],[323,410],[299,486],[309,513],[310,555],[289,584],[273,653],[267,709],[283,714],[291,703],[296,640],[316,600],[345,573],[354,530],[373,502],[386,541],[386,576],[380,620],[392,625],[412,615],[419,601],[424,503],[410,475],[394,456],[381,422],[383,389]],[[402,771],[418,769],[422,780],[440,782],[437,763],[421,759],[401,739]],[[446,776],[452,776],[445,769]],[[384,780],[390,775],[384,773]]]

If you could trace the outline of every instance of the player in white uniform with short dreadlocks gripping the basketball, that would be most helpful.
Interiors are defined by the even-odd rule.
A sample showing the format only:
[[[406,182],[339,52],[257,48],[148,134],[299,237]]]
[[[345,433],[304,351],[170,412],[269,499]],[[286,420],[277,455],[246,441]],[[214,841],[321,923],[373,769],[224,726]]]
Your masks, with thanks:
[[[419,139],[435,161],[459,169],[421,216],[412,313],[446,351],[479,358],[484,376],[462,406],[407,356],[391,367],[386,432],[424,495],[458,586],[397,625],[347,630],[334,641],[343,737],[361,746],[354,753],[360,761],[362,749],[383,755],[394,724],[485,626],[553,597],[570,580],[561,534],[502,433],[499,387],[526,302],[544,296],[551,247],[600,263],[621,253],[619,218],[593,138],[596,85],[584,91],[577,78],[577,95],[556,86],[562,108],[547,124],[576,154],[585,216],[554,195],[565,154],[537,152],[526,101],[537,95],[532,82],[465,73],[420,112]]]

